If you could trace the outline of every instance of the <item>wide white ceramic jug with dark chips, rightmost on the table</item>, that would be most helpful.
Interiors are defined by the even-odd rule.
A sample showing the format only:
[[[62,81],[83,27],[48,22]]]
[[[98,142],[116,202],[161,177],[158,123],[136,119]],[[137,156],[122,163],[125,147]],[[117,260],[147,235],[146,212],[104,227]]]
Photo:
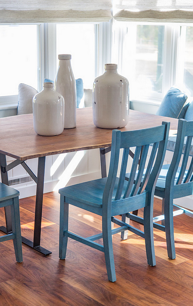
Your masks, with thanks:
[[[117,64],[105,64],[105,73],[93,84],[93,122],[103,129],[123,128],[129,120],[129,82]]]

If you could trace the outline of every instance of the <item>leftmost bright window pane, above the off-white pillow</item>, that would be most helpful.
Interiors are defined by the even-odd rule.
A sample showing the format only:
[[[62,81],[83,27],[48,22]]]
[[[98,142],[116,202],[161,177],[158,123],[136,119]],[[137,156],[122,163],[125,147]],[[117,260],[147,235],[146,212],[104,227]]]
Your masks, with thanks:
[[[0,25],[0,96],[17,95],[18,84],[38,84],[37,25]]]

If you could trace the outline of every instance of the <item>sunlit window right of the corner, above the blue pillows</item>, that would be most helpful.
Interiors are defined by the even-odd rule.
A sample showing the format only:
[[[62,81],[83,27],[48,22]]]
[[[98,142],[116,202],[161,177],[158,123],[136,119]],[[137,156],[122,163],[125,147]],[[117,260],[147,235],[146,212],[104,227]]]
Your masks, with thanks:
[[[131,99],[161,101],[173,85],[193,96],[192,25],[115,21],[113,32],[113,61]]]

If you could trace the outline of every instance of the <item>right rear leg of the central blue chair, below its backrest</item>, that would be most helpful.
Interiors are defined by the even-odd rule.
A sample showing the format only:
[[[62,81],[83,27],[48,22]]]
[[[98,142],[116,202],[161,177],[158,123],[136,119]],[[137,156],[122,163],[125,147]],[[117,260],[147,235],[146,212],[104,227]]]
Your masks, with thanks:
[[[153,241],[153,205],[144,207],[144,234],[147,262],[150,266],[156,265]]]

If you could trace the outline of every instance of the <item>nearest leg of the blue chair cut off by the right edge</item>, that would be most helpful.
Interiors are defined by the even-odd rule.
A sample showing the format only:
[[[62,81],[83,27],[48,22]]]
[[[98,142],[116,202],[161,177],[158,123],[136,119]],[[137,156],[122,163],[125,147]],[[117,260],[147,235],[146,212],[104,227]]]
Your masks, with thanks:
[[[174,244],[174,222],[173,222],[173,197],[165,197],[164,202],[165,215],[165,235],[167,243],[168,257],[176,258],[175,244]]]

